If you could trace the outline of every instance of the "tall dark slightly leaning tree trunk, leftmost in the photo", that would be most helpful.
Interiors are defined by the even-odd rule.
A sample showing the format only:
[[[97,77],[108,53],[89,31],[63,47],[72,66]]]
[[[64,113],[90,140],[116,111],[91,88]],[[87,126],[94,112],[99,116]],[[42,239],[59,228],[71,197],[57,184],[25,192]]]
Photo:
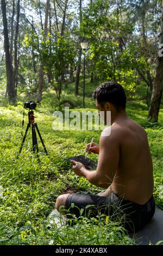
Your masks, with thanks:
[[[14,85],[12,81],[12,63],[10,56],[10,46],[9,46],[9,35],[8,35],[8,22],[6,14],[6,3],[5,0],[1,0],[2,16],[3,16],[3,33],[4,33],[4,51],[5,51],[5,66],[7,72],[7,88],[10,104],[15,103],[15,92]]]

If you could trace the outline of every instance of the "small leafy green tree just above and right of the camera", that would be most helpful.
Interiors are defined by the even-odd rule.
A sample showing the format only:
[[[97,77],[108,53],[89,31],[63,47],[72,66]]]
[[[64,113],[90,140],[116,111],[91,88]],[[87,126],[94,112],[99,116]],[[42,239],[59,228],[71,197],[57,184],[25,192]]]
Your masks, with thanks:
[[[59,33],[52,37],[50,33],[46,36],[44,32],[40,35],[26,35],[23,44],[26,47],[32,47],[35,56],[43,63],[43,70],[49,76],[49,86],[55,89],[60,106],[60,95],[62,91],[62,76],[70,75],[68,66],[74,68],[75,48],[74,42],[67,32],[65,35]],[[66,72],[65,72],[66,70]]]

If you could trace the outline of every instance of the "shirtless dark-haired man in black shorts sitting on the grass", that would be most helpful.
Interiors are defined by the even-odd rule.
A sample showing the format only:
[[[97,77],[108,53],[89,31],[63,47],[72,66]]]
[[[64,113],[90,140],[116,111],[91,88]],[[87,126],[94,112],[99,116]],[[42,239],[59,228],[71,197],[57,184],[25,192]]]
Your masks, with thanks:
[[[97,208],[102,214],[115,217],[118,209],[119,213],[127,216],[124,227],[129,231],[139,230],[155,212],[153,165],[146,131],[127,116],[126,94],[120,84],[102,83],[93,97],[99,113],[111,111],[111,133],[110,136],[101,135],[99,145],[93,143],[90,149],[90,144],[86,146],[88,153],[99,154],[96,170],[87,170],[76,161],[72,164],[74,173],[84,176],[93,185],[106,188],[106,191],[102,196],[63,194],[57,198],[56,207],[59,210],[63,205],[77,217],[80,216],[79,210],[71,209],[71,203],[79,209],[95,205],[90,217],[97,215]],[[106,114],[104,121],[106,124]]]

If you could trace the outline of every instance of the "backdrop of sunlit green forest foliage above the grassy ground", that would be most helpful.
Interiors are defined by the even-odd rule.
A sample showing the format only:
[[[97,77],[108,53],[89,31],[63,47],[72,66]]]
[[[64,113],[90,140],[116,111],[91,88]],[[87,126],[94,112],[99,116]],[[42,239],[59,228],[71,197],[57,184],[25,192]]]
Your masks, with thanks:
[[[16,15],[12,17],[13,4],[14,2],[7,2],[8,32],[14,65],[16,45],[12,36],[15,32],[11,30],[12,26],[16,25]],[[86,1],[82,6],[83,22],[80,26],[79,13],[76,11],[79,3],[72,0],[66,9],[65,30],[62,36],[60,34],[64,24],[62,18],[65,3],[61,1],[60,7],[57,3],[55,7],[57,16],[55,16],[54,4],[51,4],[51,22],[48,20],[46,36],[43,31],[46,3],[22,2],[17,40],[18,100],[23,96],[36,97],[39,69],[43,63],[45,71],[43,91],[48,93],[49,90],[54,89],[54,99],[61,101],[63,84],[68,87],[76,76],[78,53],[79,49],[81,50],[80,40],[89,42],[86,51],[86,76],[92,74],[94,83],[106,80],[118,81],[123,83],[128,97],[134,99],[142,81],[146,87],[150,81],[153,81],[155,54],[159,44],[160,1],[96,0],[92,4]],[[15,11],[16,8],[15,3]],[[0,50],[2,57],[0,89],[1,95],[4,96],[7,77],[3,44]],[[147,71],[149,71],[148,75],[151,74],[151,78],[147,75]],[[147,97],[147,88],[144,89],[144,96],[149,103],[151,92]],[[82,90],[82,83],[79,84],[79,90]],[[8,99],[3,99],[4,102],[7,105]],[[58,106],[61,108],[60,104]]]

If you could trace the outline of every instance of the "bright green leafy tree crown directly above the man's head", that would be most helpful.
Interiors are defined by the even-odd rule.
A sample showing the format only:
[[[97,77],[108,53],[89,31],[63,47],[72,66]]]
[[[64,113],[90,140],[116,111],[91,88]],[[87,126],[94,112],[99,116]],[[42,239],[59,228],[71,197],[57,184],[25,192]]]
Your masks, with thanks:
[[[140,51],[140,44],[131,38],[135,28],[126,11],[120,19],[116,8],[110,7],[108,1],[95,1],[84,11],[82,28],[90,42],[90,70],[99,80],[123,83],[128,95],[133,97],[135,71],[141,70],[145,74],[149,66]]]

